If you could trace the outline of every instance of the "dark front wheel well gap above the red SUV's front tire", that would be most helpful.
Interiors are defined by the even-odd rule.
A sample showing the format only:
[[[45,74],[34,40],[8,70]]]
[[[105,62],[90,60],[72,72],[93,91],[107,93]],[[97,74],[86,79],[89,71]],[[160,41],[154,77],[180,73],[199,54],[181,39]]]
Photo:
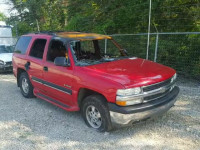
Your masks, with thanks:
[[[78,93],[78,105],[79,107],[81,106],[83,100],[87,97],[87,96],[90,96],[90,95],[101,95],[102,97],[104,97],[105,99],[105,102],[106,102],[106,98],[104,95],[96,92],[96,91],[93,91],[93,90],[90,90],[90,89],[86,89],[86,88],[81,88],[79,90],[79,93]]]

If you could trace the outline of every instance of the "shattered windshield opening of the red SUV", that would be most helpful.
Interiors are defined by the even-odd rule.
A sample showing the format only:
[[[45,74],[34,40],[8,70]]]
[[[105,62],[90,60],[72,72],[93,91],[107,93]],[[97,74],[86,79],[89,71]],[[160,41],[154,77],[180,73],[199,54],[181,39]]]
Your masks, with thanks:
[[[126,51],[113,39],[73,41],[70,43],[78,66],[88,66],[127,58]]]

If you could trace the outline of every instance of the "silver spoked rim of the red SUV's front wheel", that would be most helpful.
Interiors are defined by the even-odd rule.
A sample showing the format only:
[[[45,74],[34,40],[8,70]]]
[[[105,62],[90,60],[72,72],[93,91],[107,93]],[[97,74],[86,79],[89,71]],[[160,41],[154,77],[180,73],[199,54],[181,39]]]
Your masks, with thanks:
[[[93,128],[99,128],[102,124],[101,114],[98,109],[92,105],[88,106],[86,109],[86,118],[88,123]]]

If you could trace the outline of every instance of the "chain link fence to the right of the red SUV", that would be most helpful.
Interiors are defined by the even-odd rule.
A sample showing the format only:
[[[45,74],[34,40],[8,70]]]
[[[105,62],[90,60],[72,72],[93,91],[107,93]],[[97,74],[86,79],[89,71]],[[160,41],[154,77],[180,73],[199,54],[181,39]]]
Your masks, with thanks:
[[[114,34],[128,54],[146,59],[147,33]],[[200,92],[200,32],[151,33],[148,59],[177,70],[178,84]]]

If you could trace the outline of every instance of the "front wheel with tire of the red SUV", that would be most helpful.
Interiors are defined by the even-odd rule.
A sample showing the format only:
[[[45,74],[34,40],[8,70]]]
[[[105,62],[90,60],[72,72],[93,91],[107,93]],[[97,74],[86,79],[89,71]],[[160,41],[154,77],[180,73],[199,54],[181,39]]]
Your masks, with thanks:
[[[91,95],[86,97],[81,105],[81,113],[87,126],[99,132],[112,129],[110,114],[105,101],[105,98],[101,95]]]

